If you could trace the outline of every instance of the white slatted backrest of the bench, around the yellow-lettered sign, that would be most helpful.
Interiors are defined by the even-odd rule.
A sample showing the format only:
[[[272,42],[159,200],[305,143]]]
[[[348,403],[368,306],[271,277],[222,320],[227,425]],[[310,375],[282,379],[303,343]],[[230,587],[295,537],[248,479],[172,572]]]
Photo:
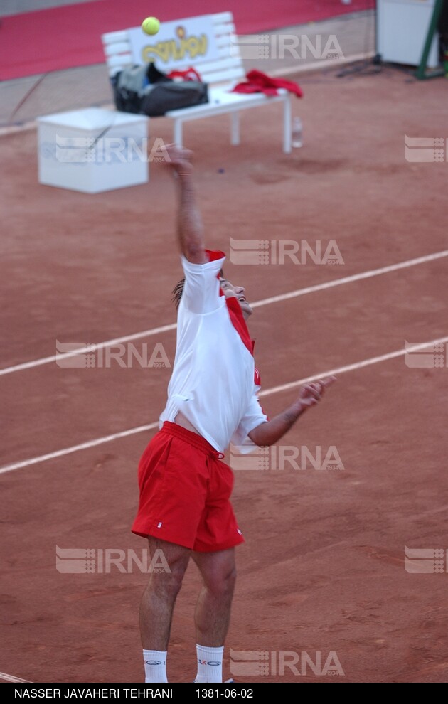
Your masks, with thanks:
[[[213,21],[218,58],[213,60],[186,58],[185,62],[178,63],[178,68],[183,70],[193,66],[193,68],[198,70],[201,79],[209,84],[231,83],[240,80],[244,77],[245,70],[242,65],[238,43],[235,41],[233,14],[231,12],[220,12],[207,17]],[[195,19],[200,21],[201,16],[197,16]],[[181,24],[182,21],[180,19],[176,22]],[[124,29],[118,32],[102,34],[101,39],[110,76],[134,63],[129,30]],[[157,60],[155,64],[159,70],[164,71],[164,67]]]

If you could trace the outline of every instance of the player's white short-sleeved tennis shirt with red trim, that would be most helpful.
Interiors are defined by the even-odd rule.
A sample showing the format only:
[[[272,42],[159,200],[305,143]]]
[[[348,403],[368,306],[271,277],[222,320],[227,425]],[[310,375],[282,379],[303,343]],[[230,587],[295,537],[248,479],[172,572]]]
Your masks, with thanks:
[[[225,254],[207,252],[206,264],[191,264],[181,255],[185,284],[176,356],[159,427],[175,422],[181,411],[218,452],[232,442],[247,453],[257,447],[248,433],[267,421],[257,398],[253,342],[238,300],[220,292],[218,274]]]

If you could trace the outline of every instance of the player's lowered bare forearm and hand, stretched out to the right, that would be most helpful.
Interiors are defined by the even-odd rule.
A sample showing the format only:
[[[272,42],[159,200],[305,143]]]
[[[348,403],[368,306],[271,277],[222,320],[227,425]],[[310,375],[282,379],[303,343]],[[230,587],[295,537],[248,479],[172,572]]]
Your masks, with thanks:
[[[292,428],[302,413],[319,403],[325,389],[334,381],[336,377],[329,376],[302,386],[297,400],[289,408],[251,430],[249,437],[252,442],[259,447],[274,445]]]

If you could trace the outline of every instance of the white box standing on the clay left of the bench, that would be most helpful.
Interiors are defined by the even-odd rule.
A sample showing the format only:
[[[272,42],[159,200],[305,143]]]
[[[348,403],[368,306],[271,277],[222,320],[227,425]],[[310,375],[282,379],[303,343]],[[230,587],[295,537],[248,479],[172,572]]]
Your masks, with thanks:
[[[89,107],[38,117],[38,180],[100,193],[149,180],[148,118]]]

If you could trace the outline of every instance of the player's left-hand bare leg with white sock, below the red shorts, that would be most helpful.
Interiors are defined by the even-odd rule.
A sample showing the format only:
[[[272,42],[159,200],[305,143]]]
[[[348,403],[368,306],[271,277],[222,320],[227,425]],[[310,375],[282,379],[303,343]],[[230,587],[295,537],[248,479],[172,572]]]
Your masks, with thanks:
[[[174,604],[182,586],[191,550],[166,540],[148,538],[149,555],[163,555],[164,571],[152,570],[140,604],[140,635],[146,682],[166,682],[168,649]],[[156,553],[161,550],[161,553]],[[154,560],[156,562],[156,560]],[[145,655],[146,653],[146,655]]]

